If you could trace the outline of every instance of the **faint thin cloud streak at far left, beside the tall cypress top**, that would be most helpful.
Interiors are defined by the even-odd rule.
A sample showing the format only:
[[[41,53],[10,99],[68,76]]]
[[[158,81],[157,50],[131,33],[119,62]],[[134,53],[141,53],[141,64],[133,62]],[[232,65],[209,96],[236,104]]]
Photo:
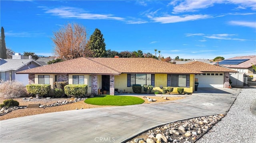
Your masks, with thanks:
[[[22,32],[7,31],[4,33],[4,35],[9,37],[39,37],[39,36],[45,36],[46,33],[42,31],[22,31]]]

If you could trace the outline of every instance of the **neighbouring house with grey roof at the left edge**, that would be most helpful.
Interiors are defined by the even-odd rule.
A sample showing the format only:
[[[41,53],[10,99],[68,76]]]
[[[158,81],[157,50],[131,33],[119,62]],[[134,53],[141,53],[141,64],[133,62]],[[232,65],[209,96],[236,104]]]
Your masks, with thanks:
[[[0,78],[6,80],[18,80],[22,84],[28,84],[28,74],[16,74],[18,71],[40,67],[39,63],[32,59],[16,53],[12,59],[0,59]]]

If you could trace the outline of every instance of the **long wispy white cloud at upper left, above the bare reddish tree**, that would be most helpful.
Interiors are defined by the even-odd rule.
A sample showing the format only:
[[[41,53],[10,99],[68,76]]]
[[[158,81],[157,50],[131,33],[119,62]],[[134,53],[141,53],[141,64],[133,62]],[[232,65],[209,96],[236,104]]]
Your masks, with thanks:
[[[74,7],[59,7],[46,8],[39,7],[45,10],[46,14],[58,16],[60,18],[75,18],[75,19],[89,19],[89,20],[124,20],[124,18],[115,17],[113,14],[92,14],[80,8]]]

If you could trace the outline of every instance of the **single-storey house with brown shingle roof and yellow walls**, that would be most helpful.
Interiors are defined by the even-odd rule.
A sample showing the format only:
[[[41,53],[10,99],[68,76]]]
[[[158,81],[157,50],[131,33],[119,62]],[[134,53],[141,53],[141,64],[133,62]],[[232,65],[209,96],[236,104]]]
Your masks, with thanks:
[[[153,92],[161,91],[160,86],[172,86],[173,92],[177,92],[178,87],[183,87],[184,92],[192,93],[195,74],[203,75],[203,71],[219,73],[222,87],[225,88],[228,88],[229,72],[234,72],[202,62],[177,65],[153,58],[81,57],[20,71],[18,74],[29,74],[29,84],[51,84],[54,88],[54,82],[66,81],[68,84],[87,84],[88,95],[98,94],[99,88],[114,95],[115,89],[132,93],[133,84],[152,85]]]

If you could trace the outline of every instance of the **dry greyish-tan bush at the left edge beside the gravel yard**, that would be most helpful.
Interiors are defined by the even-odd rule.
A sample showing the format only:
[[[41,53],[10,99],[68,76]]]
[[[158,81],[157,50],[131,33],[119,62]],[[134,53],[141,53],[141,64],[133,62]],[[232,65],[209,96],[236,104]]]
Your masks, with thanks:
[[[18,98],[27,94],[25,86],[16,80],[0,80],[0,98]]]

